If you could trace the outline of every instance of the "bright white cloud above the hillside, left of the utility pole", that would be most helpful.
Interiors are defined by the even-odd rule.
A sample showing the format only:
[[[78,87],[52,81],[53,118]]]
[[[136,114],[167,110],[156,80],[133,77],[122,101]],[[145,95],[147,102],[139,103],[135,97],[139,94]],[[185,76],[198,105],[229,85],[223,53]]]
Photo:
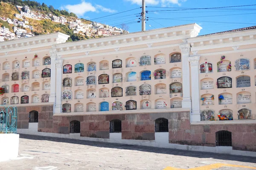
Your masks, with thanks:
[[[116,12],[116,10],[105,8],[101,5],[96,4],[93,6],[93,4],[87,3],[84,0],[82,0],[79,4],[61,6],[61,9],[67,9],[68,12],[73,12],[80,17],[83,16],[86,12]]]

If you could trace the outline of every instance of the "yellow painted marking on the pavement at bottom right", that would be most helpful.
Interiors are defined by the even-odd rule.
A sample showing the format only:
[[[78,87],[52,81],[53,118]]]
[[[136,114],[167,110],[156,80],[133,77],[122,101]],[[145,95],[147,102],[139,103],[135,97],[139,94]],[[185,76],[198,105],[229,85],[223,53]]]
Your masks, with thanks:
[[[194,168],[190,168],[190,169],[166,167],[163,170],[212,170],[214,168],[219,168],[219,167],[243,167],[243,168],[250,168],[250,169],[256,170],[256,167],[247,167],[247,166],[243,166],[243,165],[232,165],[232,164],[223,164],[223,163],[210,164],[210,165],[205,165],[202,167],[194,167]]]

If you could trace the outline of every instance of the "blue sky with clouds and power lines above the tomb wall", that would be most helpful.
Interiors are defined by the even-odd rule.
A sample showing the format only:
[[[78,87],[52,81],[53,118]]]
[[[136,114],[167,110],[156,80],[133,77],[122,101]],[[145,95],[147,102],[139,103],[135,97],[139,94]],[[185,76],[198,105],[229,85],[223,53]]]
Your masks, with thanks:
[[[55,9],[66,9],[74,12],[80,18],[93,20],[94,18],[135,9],[122,14],[103,17],[94,21],[105,23],[111,26],[120,26],[127,23],[128,31],[138,32],[141,30],[141,23],[138,21],[142,0],[37,0],[40,3],[52,5]],[[233,7],[227,9],[201,9],[185,11],[161,11],[174,10],[170,8],[153,7],[175,7],[175,8],[210,8],[223,6],[254,5],[256,0],[146,0],[146,15],[148,21],[146,30],[177,26],[188,23],[197,23],[203,29],[200,35],[225,30],[256,26],[256,6]],[[157,12],[158,11],[158,12]],[[207,16],[207,17],[205,17]],[[163,19],[168,18],[168,19]],[[172,20],[170,20],[170,18]],[[217,23],[220,22],[220,23]],[[223,22],[223,23],[221,23]]]

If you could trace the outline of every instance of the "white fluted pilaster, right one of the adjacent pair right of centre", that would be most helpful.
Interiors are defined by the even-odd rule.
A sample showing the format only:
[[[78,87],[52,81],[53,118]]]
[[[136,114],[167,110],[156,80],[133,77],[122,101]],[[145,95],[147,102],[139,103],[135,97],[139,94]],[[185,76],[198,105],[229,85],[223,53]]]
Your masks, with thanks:
[[[192,112],[190,121],[200,121],[200,95],[199,95],[199,59],[200,55],[189,57],[191,67]]]

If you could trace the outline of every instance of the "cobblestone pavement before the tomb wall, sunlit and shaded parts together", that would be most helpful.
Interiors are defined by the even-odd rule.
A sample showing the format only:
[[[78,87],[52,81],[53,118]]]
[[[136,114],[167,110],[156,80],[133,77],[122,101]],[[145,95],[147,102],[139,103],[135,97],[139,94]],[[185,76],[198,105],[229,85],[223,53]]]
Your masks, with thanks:
[[[219,163],[241,167],[212,165]],[[0,162],[0,170],[252,170],[255,167],[253,157],[35,135],[20,135],[19,157]]]

